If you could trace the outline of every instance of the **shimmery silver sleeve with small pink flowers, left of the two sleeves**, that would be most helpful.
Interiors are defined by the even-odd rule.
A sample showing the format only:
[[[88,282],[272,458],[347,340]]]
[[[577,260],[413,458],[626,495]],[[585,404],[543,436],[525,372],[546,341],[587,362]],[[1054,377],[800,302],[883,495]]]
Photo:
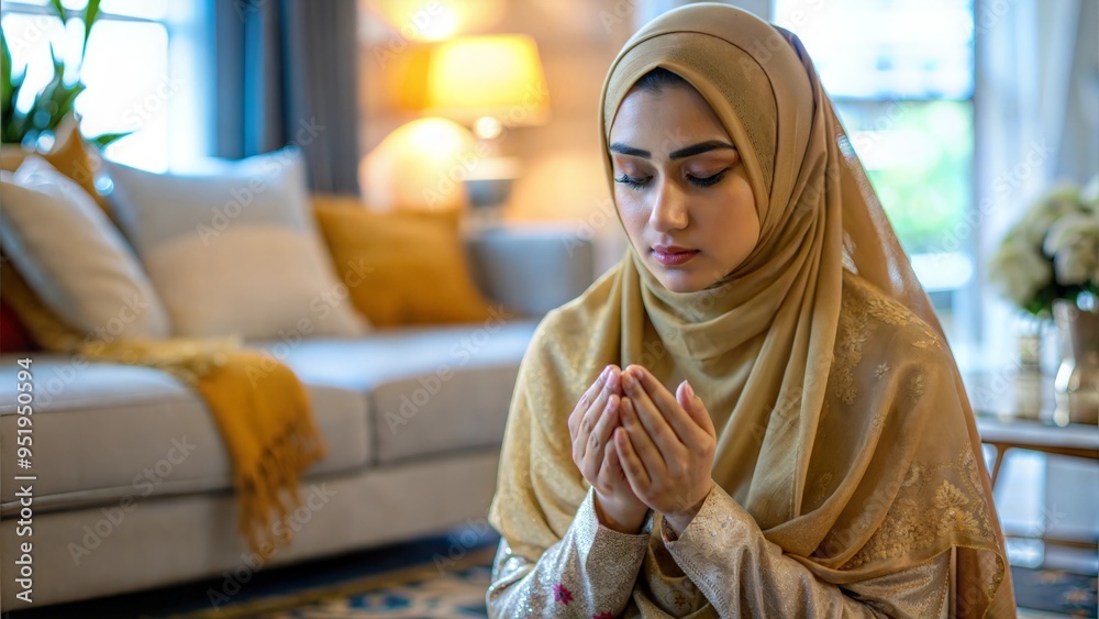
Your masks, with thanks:
[[[593,494],[577,509],[559,542],[540,557],[514,552],[500,540],[486,601],[489,617],[620,616],[634,588],[652,531],[636,535],[603,527]]]

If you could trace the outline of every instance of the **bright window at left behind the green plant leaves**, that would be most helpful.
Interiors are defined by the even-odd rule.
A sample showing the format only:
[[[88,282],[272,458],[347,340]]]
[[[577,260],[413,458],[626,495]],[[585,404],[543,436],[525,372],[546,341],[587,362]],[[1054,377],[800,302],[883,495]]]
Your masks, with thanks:
[[[4,2],[2,23],[13,73],[26,67],[16,109],[51,75],[51,45],[59,59],[75,59],[84,43],[87,0],[64,0],[66,23],[48,0]],[[86,136],[132,132],[107,148],[113,161],[153,172],[189,165],[208,152],[204,89],[199,70],[202,2],[103,0],[88,40],[81,77],[87,90],[76,99]],[[70,78],[76,67],[66,67]]]

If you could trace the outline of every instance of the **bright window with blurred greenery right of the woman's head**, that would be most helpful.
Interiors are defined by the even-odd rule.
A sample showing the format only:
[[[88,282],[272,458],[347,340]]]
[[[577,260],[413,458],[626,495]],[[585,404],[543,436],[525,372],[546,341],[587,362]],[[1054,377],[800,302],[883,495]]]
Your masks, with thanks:
[[[976,322],[973,0],[775,0],[836,103],[955,353]],[[959,350],[961,349],[961,350]]]

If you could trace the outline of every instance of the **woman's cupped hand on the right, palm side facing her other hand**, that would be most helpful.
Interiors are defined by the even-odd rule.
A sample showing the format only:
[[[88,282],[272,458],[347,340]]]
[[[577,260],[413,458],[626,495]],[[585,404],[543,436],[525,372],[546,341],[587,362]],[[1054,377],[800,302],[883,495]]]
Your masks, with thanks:
[[[614,431],[634,494],[682,533],[713,484],[713,421],[684,380],[671,395],[640,365],[622,371],[622,428]]]

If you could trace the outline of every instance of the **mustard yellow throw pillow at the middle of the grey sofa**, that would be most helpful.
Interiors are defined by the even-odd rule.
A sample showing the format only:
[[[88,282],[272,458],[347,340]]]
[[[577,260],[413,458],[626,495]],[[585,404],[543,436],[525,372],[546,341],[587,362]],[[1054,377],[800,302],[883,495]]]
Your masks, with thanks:
[[[352,302],[374,325],[490,318],[466,264],[459,212],[379,213],[323,196],[313,210]]]

